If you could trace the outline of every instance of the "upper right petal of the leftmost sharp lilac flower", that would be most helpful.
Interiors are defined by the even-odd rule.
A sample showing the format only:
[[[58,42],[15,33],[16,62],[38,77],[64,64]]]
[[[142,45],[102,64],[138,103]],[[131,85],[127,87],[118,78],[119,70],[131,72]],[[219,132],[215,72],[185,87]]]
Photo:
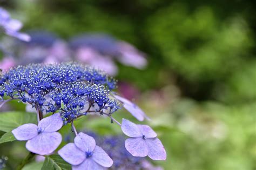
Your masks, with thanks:
[[[55,132],[58,131],[63,125],[62,118],[59,113],[55,113],[39,121],[38,127],[43,132]]]

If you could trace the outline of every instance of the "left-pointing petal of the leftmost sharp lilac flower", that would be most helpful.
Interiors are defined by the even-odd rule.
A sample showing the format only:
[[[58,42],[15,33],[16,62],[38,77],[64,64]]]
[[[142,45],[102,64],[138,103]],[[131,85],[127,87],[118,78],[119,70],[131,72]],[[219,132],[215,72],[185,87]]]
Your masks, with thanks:
[[[29,140],[37,135],[37,125],[24,124],[11,131],[17,140]]]

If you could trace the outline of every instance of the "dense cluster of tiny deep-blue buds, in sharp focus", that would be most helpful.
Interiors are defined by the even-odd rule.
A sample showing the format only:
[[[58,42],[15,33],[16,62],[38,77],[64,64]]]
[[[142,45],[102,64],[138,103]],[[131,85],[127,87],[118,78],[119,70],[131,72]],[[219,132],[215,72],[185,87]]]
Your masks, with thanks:
[[[109,93],[116,80],[103,71],[77,63],[30,64],[10,69],[0,77],[0,96],[22,100],[39,112],[62,115],[64,124],[91,112],[109,114],[119,103]]]

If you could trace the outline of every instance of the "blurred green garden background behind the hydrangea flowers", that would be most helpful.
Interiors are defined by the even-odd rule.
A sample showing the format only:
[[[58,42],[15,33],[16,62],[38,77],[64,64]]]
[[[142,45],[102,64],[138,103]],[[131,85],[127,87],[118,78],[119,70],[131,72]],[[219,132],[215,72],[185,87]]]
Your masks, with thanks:
[[[256,169],[255,1],[0,4],[24,23],[23,32],[50,31],[66,41],[85,32],[103,32],[146,54],[144,69],[116,63],[116,78],[119,92],[151,117],[146,123],[166,148],[167,160],[153,164],[173,170]],[[24,109],[17,103],[10,107]],[[131,118],[124,110],[116,116]],[[99,134],[120,133],[105,119],[79,124]],[[9,167],[26,152],[16,141],[0,146]]]

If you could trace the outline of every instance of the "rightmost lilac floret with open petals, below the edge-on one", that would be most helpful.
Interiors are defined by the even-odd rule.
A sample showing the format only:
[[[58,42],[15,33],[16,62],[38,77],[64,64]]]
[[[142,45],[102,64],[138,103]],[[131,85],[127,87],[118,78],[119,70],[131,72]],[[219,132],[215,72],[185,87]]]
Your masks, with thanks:
[[[125,148],[134,157],[148,155],[153,160],[166,159],[165,148],[150,126],[136,125],[123,119],[121,128],[124,134],[131,137],[125,140]]]

